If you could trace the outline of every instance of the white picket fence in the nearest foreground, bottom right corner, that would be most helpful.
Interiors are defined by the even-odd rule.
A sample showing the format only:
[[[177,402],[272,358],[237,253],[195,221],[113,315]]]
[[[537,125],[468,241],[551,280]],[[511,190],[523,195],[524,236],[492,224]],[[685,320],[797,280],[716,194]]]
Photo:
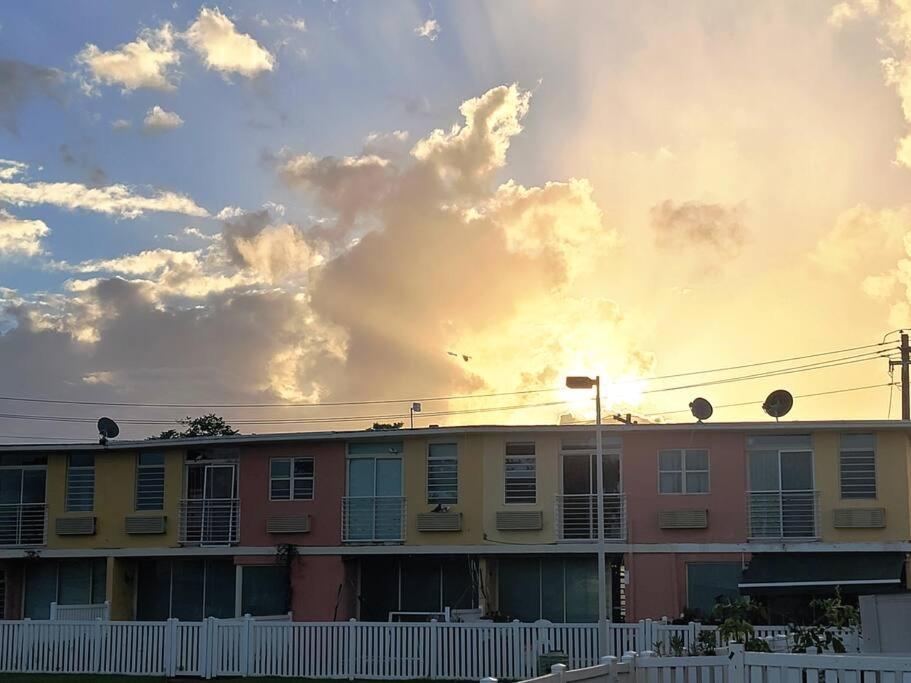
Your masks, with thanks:
[[[598,665],[551,673],[524,683],[909,683],[911,656],[769,654],[731,645],[716,656],[656,657],[630,652]],[[497,683],[494,677],[481,683]]]

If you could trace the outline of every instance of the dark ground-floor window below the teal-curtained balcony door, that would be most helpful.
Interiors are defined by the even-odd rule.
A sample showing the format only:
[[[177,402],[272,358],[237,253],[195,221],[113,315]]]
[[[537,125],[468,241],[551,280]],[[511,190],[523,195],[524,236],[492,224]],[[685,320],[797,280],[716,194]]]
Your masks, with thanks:
[[[371,557],[360,565],[360,615],[387,621],[392,612],[474,609],[477,562],[465,557]]]

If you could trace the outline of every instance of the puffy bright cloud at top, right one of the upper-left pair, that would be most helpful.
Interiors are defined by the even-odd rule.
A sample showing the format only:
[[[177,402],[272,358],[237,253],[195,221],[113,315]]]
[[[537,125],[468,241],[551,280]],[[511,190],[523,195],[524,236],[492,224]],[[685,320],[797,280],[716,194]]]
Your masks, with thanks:
[[[184,38],[206,68],[222,74],[253,78],[275,67],[275,58],[249,35],[238,33],[218,8],[203,7]]]

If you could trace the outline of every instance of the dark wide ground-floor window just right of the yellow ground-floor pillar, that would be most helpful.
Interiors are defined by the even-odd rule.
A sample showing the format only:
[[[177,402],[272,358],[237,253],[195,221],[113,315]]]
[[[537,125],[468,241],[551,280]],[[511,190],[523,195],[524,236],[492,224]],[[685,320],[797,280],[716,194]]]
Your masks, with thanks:
[[[136,618],[163,621],[228,619],[234,615],[235,568],[231,558],[141,560],[137,567]]]

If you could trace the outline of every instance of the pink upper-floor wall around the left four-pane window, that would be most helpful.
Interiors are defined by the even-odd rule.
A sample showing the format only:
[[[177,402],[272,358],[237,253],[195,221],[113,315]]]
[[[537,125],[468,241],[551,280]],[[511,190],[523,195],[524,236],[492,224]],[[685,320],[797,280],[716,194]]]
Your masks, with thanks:
[[[288,456],[310,456],[314,459],[313,500],[269,500],[269,460]],[[240,458],[239,483],[240,545],[341,544],[342,497],[345,495],[343,441],[245,448]],[[266,520],[269,517],[302,514],[310,515],[309,533],[266,533]]]

